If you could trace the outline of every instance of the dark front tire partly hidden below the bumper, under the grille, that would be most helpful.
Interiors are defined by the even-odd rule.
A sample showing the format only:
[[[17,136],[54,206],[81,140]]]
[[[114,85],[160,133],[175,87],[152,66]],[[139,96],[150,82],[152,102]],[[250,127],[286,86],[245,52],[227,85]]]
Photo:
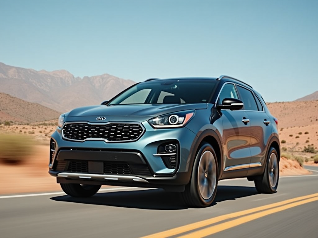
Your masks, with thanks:
[[[72,197],[90,197],[98,192],[101,185],[85,185],[78,183],[61,183],[63,191]]]

